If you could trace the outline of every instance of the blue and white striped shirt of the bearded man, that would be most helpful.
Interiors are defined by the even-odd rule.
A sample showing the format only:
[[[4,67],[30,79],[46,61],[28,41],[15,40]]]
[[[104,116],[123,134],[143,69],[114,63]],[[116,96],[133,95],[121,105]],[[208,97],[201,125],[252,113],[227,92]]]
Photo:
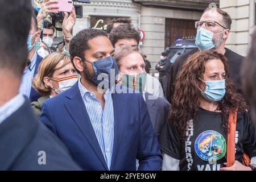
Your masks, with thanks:
[[[104,93],[105,105],[104,109],[102,109],[101,103],[97,100],[95,94],[87,90],[85,86],[81,84],[81,80],[79,80],[78,84],[82,100],[84,101],[98,144],[101,147],[106,164],[110,169],[114,146],[115,120],[112,92],[108,89]]]

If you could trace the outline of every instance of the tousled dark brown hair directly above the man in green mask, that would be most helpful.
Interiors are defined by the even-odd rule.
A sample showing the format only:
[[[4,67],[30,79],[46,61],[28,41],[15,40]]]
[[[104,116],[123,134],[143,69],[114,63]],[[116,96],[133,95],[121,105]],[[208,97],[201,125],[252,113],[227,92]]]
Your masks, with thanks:
[[[114,28],[114,30],[109,34],[109,40],[113,47],[115,47],[115,43],[117,43],[119,39],[135,39],[139,44],[141,36],[139,36],[139,33],[133,27],[123,24]]]

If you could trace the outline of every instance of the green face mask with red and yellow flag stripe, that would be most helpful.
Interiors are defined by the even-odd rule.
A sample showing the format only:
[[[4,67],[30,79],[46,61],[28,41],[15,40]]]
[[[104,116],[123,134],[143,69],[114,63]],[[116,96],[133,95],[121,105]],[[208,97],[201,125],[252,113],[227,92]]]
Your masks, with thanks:
[[[126,75],[121,73],[121,75],[123,86],[138,90],[141,93],[144,91],[146,85],[146,73],[138,73],[137,75]]]

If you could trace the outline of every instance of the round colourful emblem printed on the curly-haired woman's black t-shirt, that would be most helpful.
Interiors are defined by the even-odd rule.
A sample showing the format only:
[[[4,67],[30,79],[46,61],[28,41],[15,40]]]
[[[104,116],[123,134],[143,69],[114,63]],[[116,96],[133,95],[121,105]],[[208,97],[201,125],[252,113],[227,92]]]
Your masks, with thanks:
[[[226,140],[217,131],[204,131],[196,138],[195,151],[205,161],[217,161],[226,154]]]

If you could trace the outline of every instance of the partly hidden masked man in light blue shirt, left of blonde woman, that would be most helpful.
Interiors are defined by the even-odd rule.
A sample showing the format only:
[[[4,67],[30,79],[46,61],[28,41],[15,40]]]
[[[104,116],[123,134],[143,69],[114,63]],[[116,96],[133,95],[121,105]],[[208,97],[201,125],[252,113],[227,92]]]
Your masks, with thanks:
[[[27,40],[27,65],[23,71],[22,82],[19,87],[19,92],[29,98],[31,102],[38,101],[38,98],[40,97],[40,94],[36,92],[34,88],[32,88],[32,79],[34,78],[36,73],[38,73],[39,64],[43,59],[35,52],[35,42],[40,39],[40,32],[37,31],[37,29],[38,23],[36,20],[36,16],[33,14],[30,26],[30,35],[28,36]]]

